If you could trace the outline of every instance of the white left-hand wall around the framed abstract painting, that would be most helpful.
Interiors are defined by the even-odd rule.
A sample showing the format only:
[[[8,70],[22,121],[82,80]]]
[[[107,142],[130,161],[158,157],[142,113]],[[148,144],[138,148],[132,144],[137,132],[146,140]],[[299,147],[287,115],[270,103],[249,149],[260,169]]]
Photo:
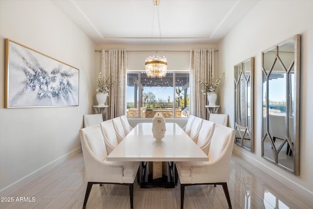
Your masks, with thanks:
[[[4,108],[4,39],[79,69],[79,106]],[[92,113],[93,42],[52,2],[0,1],[0,192],[7,195],[80,151],[83,115]]]

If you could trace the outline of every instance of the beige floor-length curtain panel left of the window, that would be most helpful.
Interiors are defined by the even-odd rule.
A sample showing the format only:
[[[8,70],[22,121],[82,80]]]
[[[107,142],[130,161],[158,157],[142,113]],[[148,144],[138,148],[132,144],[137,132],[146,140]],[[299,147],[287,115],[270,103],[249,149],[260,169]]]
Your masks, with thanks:
[[[104,77],[112,75],[111,81],[119,82],[109,90],[106,104],[106,119],[126,114],[126,49],[109,49],[101,51],[101,73]]]

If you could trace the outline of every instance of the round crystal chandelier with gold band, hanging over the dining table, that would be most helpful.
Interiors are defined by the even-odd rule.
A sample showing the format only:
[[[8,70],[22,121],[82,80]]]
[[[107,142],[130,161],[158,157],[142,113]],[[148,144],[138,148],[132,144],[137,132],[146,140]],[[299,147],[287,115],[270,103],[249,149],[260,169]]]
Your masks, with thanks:
[[[159,0],[153,1],[153,4],[156,6],[156,9],[157,9],[157,20],[158,20],[157,22],[158,22],[158,28],[159,28],[159,33],[160,33],[160,40],[162,41],[159,12],[158,12],[158,7],[157,7],[159,5],[159,3],[160,3]],[[154,15],[153,15],[153,19],[154,19]],[[154,23],[154,20],[152,22]],[[153,26],[152,26],[152,28],[153,28]],[[151,37],[151,39],[152,39],[152,37]],[[161,58],[159,56],[156,56],[156,57],[155,56],[149,56],[145,62],[145,70],[146,70],[147,77],[150,77],[150,78],[165,77],[166,71],[167,71],[166,58],[164,56],[163,56],[163,58]]]

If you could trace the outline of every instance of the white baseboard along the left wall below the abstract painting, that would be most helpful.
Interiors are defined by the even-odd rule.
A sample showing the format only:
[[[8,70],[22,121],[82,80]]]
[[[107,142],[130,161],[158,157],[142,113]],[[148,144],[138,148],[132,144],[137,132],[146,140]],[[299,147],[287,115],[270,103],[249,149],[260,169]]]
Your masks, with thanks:
[[[24,176],[23,178],[19,179],[18,181],[5,186],[4,188],[2,188],[0,190],[0,196],[1,197],[6,197],[7,195],[11,194],[12,192],[14,192],[15,190],[17,190],[18,188],[22,187],[23,185],[27,184],[28,182],[32,181],[33,179],[37,178],[38,176],[42,175],[43,173],[45,173],[46,171],[50,170],[51,168],[53,168],[54,166],[66,161],[68,158],[76,155],[77,153],[82,151],[82,147],[78,147],[72,151],[70,151],[69,153],[61,156],[60,158],[42,166],[41,168],[35,170],[34,172],[28,174],[27,176]]]

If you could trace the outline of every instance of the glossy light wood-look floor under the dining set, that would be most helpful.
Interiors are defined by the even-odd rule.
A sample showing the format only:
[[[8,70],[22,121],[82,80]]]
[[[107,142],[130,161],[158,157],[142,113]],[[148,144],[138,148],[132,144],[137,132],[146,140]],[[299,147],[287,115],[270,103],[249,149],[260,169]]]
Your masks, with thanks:
[[[233,209],[313,209],[313,203],[233,155],[228,189]],[[1,209],[81,209],[87,182],[82,153],[22,186]],[[16,202],[28,197],[34,202]],[[129,209],[128,186],[94,185],[87,209]],[[179,209],[180,186],[144,189],[134,185],[134,209]],[[222,186],[187,186],[184,209],[227,209]]]

